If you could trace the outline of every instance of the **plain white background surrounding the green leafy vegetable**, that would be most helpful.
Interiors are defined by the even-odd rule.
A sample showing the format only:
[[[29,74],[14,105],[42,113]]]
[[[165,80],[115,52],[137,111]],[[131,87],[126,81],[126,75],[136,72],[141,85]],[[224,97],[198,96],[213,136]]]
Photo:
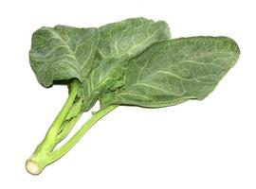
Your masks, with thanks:
[[[256,188],[255,1],[1,1],[0,188]],[[101,26],[143,16],[173,38],[229,36],[241,57],[204,101],[163,109],[119,107],[40,176],[25,161],[67,96],[45,89],[28,50],[40,26]],[[82,117],[79,126],[88,118]]]

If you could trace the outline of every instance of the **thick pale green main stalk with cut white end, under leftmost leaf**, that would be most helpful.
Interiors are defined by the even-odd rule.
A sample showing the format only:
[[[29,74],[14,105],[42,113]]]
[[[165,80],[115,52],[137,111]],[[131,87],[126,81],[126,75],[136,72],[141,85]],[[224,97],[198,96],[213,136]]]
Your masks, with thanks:
[[[36,147],[32,156],[27,160],[26,168],[29,173],[37,175],[46,166],[46,157],[57,145],[59,130],[62,127],[67,113],[74,103],[79,90],[79,85],[80,83],[76,79],[70,83],[70,93],[64,103],[64,107],[62,108],[61,112],[59,112],[52,125],[46,132],[44,140],[39,146]]]

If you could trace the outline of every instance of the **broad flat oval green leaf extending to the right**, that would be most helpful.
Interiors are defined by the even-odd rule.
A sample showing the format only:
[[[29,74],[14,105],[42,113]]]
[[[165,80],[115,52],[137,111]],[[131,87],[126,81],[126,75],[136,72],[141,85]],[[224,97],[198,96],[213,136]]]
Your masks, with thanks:
[[[126,81],[101,98],[110,104],[141,107],[172,106],[203,99],[213,91],[239,57],[227,37],[192,37],[155,43],[129,62]]]

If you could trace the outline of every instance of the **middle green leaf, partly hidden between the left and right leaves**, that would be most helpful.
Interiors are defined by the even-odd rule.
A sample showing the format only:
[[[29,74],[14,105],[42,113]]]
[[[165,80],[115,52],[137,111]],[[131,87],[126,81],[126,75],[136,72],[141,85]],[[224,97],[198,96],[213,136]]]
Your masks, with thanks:
[[[94,69],[83,79],[84,109],[90,109],[100,94],[123,85],[128,60],[155,42],[170,39],[168,25],[145,18],[127,19],[101,26]]]

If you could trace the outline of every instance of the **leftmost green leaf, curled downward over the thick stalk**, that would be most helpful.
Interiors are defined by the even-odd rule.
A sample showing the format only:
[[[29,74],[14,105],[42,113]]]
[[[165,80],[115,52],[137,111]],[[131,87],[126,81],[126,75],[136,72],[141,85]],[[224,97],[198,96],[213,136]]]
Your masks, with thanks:
[[[34,32],[30,64],[39,82],[78,78],[82,82],[92,69],[101,35],[97,28],[41,27]]]

